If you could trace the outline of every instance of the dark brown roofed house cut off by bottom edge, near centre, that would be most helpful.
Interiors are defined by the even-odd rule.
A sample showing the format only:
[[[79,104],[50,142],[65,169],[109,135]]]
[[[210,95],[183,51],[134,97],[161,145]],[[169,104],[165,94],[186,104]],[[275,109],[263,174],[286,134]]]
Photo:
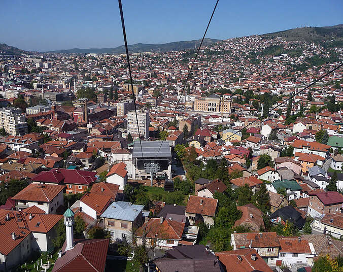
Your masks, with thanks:
[[[217,257],[203,245],[174,246],[153,262],[159,272],[224,271]]]

